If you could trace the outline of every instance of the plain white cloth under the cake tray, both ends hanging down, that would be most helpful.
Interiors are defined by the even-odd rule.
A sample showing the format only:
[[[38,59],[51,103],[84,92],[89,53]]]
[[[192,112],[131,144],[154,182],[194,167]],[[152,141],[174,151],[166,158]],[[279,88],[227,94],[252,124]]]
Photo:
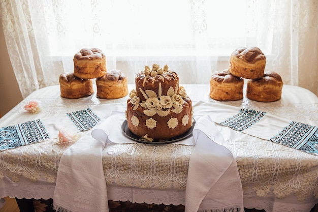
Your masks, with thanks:
[[[53,198],[57,211],[108,211],[102,149],[106,141],[136,142],[118,131],[123,120],[123,114],[111,115],[92,129],[93,137],[99,139],[105,135],[104,140],[99,139],[99,142],[87,134],[63,154]],[[222,136],[209,117],[198,120],[193,136],[184,139],[184,144],[190,145],[193,139],[196,144],[189,162],[185,211],[243,209],[242,186],[236,162],[231,152],[221,145],[224,142]],[[182,141],[179,143],[182,144]]]

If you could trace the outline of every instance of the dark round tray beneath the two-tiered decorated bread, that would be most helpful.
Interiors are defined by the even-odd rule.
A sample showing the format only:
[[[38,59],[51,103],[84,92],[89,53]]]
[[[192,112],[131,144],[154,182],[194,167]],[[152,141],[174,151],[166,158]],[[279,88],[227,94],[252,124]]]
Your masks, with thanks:
[[[135,135],[134,133],[132,133],[130,131],[130,129],[128,128],[128,123],[127,123],[127,120],[124,120],[124,122],[121,124],[121,131],[122,131],[122,134],[134,141],[137,141],[139,143],[145,143],[145,144],[152,144],[152,145],[157,145],[157,144],[168,144],[168,143],[174,143],[174,142],[177,142],[177,141],[181,141],[187,137],[189,137],[190,135],[192,135],[192,131],[193,131],[193,128],[196,124],[196,121],[195,119],[192,119],[192,127],[186,131],[185,133],[183,133],[182,135],[179,135],[177,137],[174,137],[172,139],[168,139],[168,140],[153,140],[153,141],[148,141],[144,138],[141,138],[137,135]]]

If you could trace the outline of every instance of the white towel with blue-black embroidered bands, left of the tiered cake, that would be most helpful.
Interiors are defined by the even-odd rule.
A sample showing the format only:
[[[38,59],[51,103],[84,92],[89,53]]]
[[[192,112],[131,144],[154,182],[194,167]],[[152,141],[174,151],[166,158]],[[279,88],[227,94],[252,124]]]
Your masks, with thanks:
[[[65,114],[31,120],[0,128],[0,152],[28,144],[57,139],[58,131],[83,132],[111,115],[112,110],[124,111],[124,104],[97,105]]]

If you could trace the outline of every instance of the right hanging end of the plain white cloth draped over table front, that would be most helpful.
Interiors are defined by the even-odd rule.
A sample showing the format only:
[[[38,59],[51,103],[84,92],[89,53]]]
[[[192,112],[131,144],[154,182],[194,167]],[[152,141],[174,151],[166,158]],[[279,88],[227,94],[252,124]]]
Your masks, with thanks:
[[[244,211],[236,161],[210,116],[197,120],[189,160],[185,212]]]

